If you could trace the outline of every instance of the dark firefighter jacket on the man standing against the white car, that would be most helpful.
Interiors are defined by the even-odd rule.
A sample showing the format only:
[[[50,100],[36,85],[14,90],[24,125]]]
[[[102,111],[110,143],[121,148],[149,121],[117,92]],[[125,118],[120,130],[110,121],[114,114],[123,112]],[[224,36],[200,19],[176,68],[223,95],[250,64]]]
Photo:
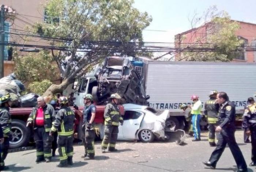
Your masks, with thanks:
[[[119,122],[123,123],[119,107],[114,103],[108,103],[104,111],[105,125],[118,126]]]

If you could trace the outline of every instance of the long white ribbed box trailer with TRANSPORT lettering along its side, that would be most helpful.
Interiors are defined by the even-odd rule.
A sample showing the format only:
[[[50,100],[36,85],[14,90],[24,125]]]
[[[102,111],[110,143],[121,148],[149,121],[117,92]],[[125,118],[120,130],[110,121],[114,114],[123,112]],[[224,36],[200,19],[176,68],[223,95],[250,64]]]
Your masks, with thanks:
[[[178,116],[183,116],[183,112],[179,106],[192,104],[193,94],[198,95],[204,105],[210,91],[225,91],[240,114],[248,97],[256,92],[254,63],[148,61],[144,69],[150,106],[169,109],[170,116],[175,116],[180,126],[182,118]]]

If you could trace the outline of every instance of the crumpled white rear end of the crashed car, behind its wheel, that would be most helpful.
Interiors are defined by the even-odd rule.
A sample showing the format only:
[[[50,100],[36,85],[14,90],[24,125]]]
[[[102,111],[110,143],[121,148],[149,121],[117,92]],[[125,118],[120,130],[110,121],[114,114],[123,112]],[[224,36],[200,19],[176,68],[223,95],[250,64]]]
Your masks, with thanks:
[[[160,115],[158,115],[154,122],[154,128],[152,132],[158,138],[165,138],[165,121],[169,117],[169,110],[163,111]]]

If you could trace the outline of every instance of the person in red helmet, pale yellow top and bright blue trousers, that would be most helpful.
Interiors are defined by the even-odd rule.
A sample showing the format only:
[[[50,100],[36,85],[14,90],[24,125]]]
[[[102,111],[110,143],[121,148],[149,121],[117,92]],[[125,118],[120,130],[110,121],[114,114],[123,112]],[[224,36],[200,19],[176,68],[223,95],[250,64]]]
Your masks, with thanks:
[[[191,100],[193,101],[193,106],[191,107],[191,115],[192,115],[192,124],[193,124],[193,132],[194,132],[194,140],[192,141],[200,141],[200,119],[201,119],[201,109],[202,102],[199,100],[197,95],[192,95]]]

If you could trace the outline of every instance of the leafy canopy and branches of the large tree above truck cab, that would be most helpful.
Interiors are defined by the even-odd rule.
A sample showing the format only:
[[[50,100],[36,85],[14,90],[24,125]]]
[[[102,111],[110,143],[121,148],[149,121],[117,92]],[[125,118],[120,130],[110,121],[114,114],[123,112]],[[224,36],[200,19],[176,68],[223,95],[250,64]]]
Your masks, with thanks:
[[[52,50],[61,76],[67,80],[63,84],[106,56],[134,55],[132,49],[139,46],[136,42],[143,40],[142,30],[152,19],[132,4],[132,0],[47,1],[48,21],[37,23],[36,32],[63,39],[49,40],[51,45],[67,47]],[[52,87],[48,91],[52,94],[61,89]]]

